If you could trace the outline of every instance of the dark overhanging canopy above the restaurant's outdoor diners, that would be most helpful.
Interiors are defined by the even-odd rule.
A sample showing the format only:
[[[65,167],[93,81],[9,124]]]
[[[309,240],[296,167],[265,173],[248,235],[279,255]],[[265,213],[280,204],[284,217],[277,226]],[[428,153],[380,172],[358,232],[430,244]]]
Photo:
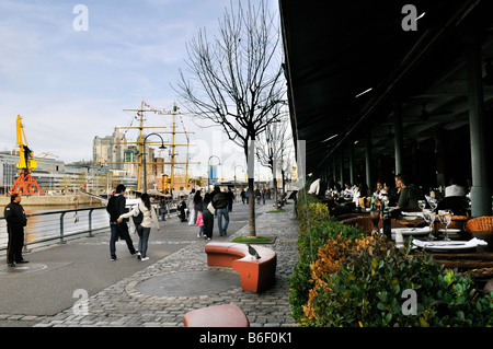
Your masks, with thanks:
[[[492,1],[279,0],[279,10],[306,173],[363,173],[374,186],[405,172],[426,189],[463,177],[472,216],[491,214]]]

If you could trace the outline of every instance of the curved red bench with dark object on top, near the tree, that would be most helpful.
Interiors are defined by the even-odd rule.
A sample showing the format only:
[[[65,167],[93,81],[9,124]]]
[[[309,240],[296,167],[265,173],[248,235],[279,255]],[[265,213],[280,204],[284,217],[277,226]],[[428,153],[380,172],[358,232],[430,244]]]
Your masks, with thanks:
[[[262,292],[274,282],[277,256],[271,248],[259,245],[254,248],[260,259],[249,254],[245,244],[208,243],[205,246],[207,265],[233,268],[240,274],[243,290]]]

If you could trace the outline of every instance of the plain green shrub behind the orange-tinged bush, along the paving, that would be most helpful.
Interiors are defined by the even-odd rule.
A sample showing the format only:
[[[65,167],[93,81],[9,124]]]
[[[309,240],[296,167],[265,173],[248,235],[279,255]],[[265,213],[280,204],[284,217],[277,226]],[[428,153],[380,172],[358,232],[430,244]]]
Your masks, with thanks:
[[[320,247],[329,239],[342,234],[345,239],[364,236],[363,230],[344,225],[329,216],[329,210],[314,196],[301,190],[298,197],[298,260],[289,278],[289,303],[291,316],[299,321],[303,315],[303,305],[308,302],[309,291],[313,288],[310,265],[317,260]]]

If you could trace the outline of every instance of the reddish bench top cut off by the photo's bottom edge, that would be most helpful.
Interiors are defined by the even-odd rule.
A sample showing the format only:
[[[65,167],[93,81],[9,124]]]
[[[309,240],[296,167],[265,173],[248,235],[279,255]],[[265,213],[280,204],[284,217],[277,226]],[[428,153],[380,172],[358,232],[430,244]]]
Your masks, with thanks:
[[[243,311],[236,304],[197,309],[183,317],[185,327],[250,327]]]

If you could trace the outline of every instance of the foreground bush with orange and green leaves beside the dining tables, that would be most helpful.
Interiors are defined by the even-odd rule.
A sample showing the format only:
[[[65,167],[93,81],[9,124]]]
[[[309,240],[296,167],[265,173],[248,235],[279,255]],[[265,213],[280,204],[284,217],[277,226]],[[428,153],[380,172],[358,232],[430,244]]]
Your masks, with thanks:
[[[426,253],[411,254],[409,243],[395,248],[385,237],[367,236],[343,248],[328,243],[312,266],[317,284],[301,317],[305,326],[493,325],[493,294],[482,295],[472,280]],[[415,292],[415,315],[403,311],[404,290]]]

